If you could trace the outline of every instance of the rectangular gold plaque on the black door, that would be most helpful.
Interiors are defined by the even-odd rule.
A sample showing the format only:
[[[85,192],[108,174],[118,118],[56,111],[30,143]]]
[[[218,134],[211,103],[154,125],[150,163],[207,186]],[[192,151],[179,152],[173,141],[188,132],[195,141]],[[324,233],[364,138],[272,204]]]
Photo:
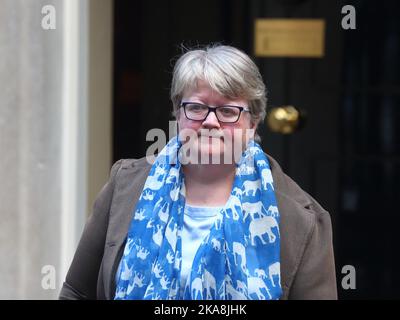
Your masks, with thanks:
[[[255,55],[258,57],[322,58],[323,19],[257,19]]]

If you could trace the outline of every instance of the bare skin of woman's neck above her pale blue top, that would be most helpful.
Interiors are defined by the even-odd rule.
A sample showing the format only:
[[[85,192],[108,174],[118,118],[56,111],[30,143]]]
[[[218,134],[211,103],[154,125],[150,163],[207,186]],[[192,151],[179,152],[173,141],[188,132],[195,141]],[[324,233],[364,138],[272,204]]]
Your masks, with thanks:
[[[186,202],[198,206],[223,206],[235,179],[235,164],[185,165]]]

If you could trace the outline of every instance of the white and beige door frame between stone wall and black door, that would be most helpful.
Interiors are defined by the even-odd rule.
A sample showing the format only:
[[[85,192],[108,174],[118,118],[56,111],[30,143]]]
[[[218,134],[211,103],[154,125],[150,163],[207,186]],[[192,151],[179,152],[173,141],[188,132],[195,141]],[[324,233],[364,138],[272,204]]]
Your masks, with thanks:
[[[59,285],[112,159],[112,0],[63,1]]]

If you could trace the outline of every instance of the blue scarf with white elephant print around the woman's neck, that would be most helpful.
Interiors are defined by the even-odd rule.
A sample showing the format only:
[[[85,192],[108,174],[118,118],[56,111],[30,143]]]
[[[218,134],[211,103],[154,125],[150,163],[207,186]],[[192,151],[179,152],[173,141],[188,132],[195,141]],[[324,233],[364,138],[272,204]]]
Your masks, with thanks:
[[[150,169],[128,231],[115,299],[279,299],[279,212],[268,158],[253,140],[179,295],[185,207],[180,147],[177,137],[171,139]]]

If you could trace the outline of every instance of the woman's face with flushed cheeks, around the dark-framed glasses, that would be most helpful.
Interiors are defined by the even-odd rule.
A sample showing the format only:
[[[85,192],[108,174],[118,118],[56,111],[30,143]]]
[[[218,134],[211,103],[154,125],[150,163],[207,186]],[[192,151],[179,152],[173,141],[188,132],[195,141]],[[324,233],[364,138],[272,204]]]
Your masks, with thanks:
[[[248,109],[248,102],[245,99],[226,98],[202,80],[198,81],[197,88],[185,92],[182,101],[201,103],[211,107],[230,105]],[[187,163],[232,164],[238,162],[248,140],[254,137],[257,126],[257,123],[252,123],[250,113],[245,111],[234,123],[218,121],[214,112],[210,112],[203,121],[187,119],[183,108],[179,109],[177,115],[183,149],[189,150],[185,156]]]

